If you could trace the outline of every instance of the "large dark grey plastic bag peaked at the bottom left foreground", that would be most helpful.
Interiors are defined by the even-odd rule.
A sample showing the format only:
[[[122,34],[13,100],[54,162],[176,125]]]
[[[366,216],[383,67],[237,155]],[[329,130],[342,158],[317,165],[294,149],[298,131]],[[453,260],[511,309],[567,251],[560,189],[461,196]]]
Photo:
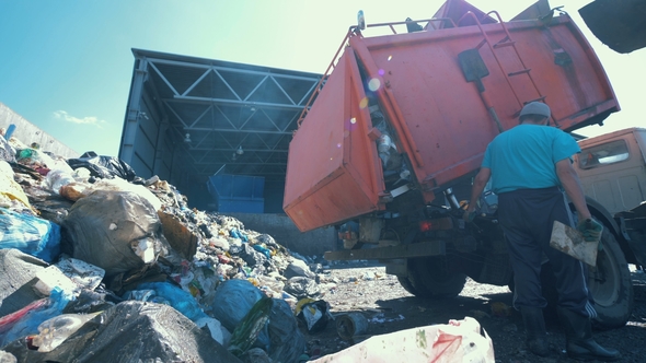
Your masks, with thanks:
[[[14,341],[4,351],[19,362],[241,363],[171,306],[123,302],[85,323],[51,352]]]

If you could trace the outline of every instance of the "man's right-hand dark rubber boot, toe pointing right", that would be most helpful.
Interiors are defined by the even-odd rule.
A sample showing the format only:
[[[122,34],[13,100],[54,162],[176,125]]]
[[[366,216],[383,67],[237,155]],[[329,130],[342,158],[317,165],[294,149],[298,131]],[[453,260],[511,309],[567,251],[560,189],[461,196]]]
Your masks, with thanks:
[[[614,362],[621,359],[616,349],[605,349],[592,339],[590,318],[560,307],[558,317],[565,328],[567,356],[578,361]]]

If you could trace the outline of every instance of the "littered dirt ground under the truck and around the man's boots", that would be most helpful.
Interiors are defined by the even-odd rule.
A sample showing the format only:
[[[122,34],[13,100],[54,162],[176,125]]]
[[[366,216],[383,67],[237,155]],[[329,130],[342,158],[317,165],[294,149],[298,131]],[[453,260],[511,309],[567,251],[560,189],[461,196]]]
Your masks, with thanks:
[[[385,274],[383,267],[344,268],[342,265],[327,272],[326,280],[337,283],[335,288],[327,289],[322,281],[321,288],[325,295],[321,298],[330,303],[332,314],[359,312],[369,321],[366,336],[357,338],[354,343],[370,336],[419,326],[447,324],[450,319],[472,316],[491,336],[496,362],[576,362],[565,354],[565,337],[553,312],[547,312],[545,315],[549,342],[554,356],[541,359],[526,350],[520,314],[509,309],[511,314],[504,316],[505,314],[494,314],[492,311],[492,304],[494,306],[504,306],[499,303],[511,305],[511,292],[506,286],[480,284],[468,280],[460,296],[429,301],[407,293],[400,285],[396,277]],[[646,273],[633,272],[633,285],[635,304],[628,324],[620,329],[595,331],[595,339],[600,344],[621,351],[620,362],[646,362]],[[334,321],[330,321],[323,331],[305,333],[305,338],[312,358],[318,354],[334,353],[353,344],[339,338]]]

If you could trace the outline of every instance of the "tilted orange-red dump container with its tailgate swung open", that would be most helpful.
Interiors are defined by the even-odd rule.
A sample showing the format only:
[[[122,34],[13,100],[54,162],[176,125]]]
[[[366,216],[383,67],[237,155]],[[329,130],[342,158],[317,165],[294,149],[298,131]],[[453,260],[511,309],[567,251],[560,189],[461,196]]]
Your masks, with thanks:
[[[416,33],[348,34],[289,148],[284,209],[301,231],[383,210],[392,200],[366,90],[374,92],[397,151],[411,162],[420,202],[472,176],[487,143],[518,124],[524,103],[545,102],[552,125],[566,131],[619,110],[603,68],[569,16],[491,23],[497,14],[488,15],[487,24],[468,13]],[[475,25],[459,26],[464,21]]]

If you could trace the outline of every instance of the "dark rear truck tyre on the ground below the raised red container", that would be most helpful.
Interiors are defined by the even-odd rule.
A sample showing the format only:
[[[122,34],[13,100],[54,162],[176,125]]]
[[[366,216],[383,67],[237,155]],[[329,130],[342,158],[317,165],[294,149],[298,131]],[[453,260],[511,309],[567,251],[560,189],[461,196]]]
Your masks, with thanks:
[[[397,277],[404,290],[422,298],[451,298],[462,292],[466,283],[463,273],[447,274],[437,268],[437,258],[411,258],[407,261],[407,277]]]

